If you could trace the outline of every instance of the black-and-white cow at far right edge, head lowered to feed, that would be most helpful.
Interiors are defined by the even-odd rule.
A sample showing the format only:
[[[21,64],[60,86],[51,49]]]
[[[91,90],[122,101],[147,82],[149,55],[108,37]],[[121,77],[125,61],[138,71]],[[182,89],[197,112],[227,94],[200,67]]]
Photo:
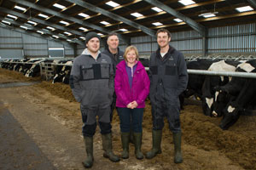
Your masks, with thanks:
[[[238,67],[244,71],[256,73],[256,60],[249,60]],[[237,97],[231,98],[224,108],[224,117],[219,125],[224,130],[228,129],[238,120],[245,108],[249,105],[255,105],[256,79],[244,78],[240,79],[240,81],[237,81],[237,83],[243,85],[242,87],[237,85],[240,88]],[[233,87],[236,88],[236,84],[233,84]]]

